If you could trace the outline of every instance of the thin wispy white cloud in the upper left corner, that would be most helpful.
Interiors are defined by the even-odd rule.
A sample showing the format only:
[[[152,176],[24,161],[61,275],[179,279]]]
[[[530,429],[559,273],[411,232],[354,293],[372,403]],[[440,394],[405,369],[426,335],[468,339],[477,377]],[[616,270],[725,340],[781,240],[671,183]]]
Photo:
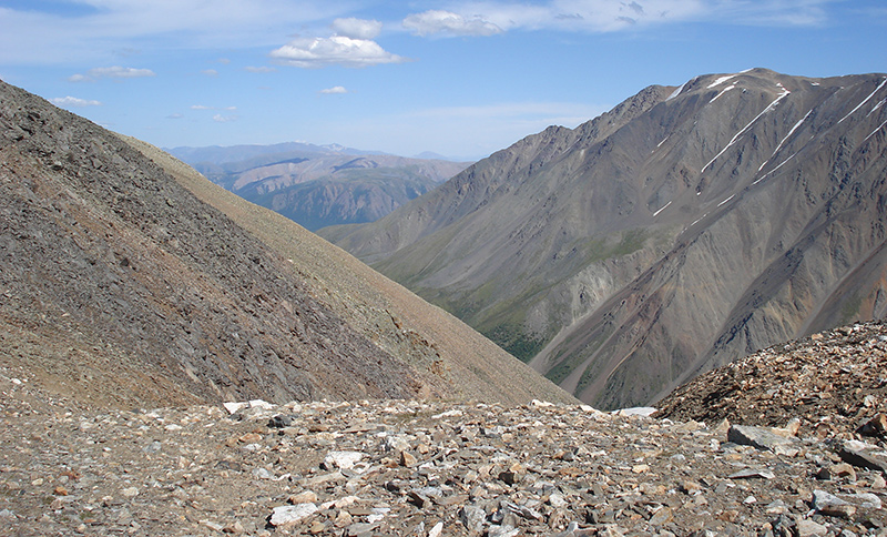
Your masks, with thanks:
[[[234,50],[273,47],[294,28],[347,17],[329,0],[67,0],[0,2],[0,63],[65,64],[113,58],[121,50]],[[55,4],[65,4],[60,14]]]

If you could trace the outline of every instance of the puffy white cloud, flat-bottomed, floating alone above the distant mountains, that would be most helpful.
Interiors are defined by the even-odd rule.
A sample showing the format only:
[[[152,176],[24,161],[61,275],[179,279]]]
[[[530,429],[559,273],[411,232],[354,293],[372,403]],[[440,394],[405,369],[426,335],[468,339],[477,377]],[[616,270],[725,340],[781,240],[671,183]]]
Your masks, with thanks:
[[[360,68],[406,61],[405,58],[387,52],[375,41],[345,36],[294,39],[279,49],[273,50],[271,57],[281,63],[298,68],[319,68],[333,64]]]

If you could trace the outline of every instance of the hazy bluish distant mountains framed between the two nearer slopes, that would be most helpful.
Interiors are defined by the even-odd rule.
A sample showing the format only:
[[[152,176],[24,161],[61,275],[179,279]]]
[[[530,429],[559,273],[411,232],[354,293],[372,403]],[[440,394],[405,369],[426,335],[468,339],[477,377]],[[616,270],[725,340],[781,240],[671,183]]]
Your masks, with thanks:
[[[378,220],[469,163],[302,142],[169,152],[214,183],[308,230]]]

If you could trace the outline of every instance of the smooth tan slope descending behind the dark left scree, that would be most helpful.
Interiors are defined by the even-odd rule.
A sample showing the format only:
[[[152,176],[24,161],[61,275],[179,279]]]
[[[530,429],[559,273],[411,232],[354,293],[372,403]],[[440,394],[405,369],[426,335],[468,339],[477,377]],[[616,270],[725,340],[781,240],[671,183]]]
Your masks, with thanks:
[[[145,142],[125,138],[197,197],[277,251],[312,295],[355,330],[419,371],[443,377],[450,397],[526,403],[574,401],[473,328],[295,222],[217,186]]]

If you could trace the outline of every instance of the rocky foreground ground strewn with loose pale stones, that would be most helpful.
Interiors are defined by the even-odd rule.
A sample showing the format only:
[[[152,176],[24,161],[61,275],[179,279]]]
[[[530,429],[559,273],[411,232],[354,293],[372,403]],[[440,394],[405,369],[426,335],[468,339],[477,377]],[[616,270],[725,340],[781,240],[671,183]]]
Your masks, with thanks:
[[[887,535],[883,399],[798,437],[544,402],[96,411],[31,384],[0,371],[2,535]]]

